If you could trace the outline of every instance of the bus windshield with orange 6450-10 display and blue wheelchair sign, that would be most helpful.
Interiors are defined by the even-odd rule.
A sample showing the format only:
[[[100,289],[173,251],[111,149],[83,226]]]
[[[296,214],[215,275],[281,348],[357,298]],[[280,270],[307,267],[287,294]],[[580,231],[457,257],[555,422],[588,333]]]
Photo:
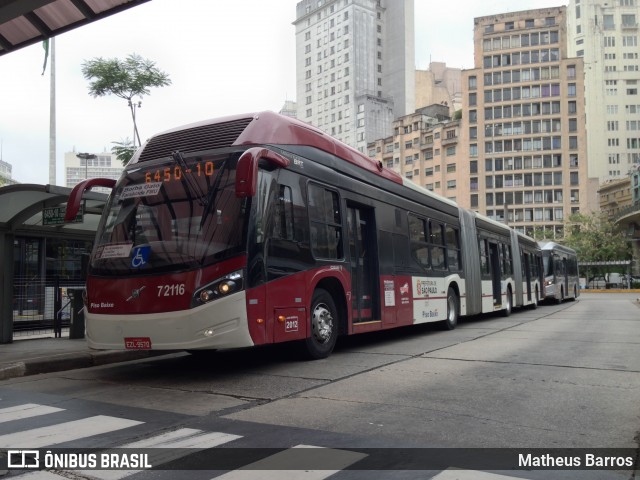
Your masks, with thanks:
[[[235,195],[241,153],[164,158],[125,170],[98,228],[91,272],[184,270],[245,251],[250,200]]]

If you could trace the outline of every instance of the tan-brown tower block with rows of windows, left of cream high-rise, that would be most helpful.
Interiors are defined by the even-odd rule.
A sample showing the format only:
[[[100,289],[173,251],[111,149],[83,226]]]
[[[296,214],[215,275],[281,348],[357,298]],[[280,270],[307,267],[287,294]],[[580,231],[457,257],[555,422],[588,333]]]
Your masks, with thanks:
[[[475,68],[462,82],[470,161],[458,172],[470,181],[459,182],[459,202],[521,231],[544,227],[550,238],[570,214],[597,205],[583,61],[567,55],[566,24],[566,7],[476,18]]]

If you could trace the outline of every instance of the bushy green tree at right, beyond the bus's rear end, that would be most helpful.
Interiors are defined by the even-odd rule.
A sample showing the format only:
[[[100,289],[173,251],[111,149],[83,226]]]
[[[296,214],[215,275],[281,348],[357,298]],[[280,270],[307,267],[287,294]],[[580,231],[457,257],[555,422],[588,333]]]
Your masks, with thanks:
[[[612,221],[575,213],[564,228],[563,245],[573,248],[581,262],[631,259],[631,245],[625,233]]]

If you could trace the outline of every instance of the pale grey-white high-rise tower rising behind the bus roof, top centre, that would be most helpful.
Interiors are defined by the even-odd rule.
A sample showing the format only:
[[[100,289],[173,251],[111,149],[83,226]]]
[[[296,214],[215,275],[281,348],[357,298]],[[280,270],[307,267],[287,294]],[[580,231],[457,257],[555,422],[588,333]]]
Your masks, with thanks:
[[[296,6],[298,118],[364,152],[413,112],[413,0]]]

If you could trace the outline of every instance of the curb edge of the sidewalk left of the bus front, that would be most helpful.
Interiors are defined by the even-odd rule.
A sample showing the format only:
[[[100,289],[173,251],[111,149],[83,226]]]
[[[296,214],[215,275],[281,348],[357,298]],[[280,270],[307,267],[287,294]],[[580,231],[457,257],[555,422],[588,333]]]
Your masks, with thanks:
[[[0,366],[0,380],[38,375],[41,373],[61,372],[78,368],[98,367],[110,363],[128,362],[143,358],[166,355],[174,352],[120,351],[63,353],[52,357],[38,357],[23,362]]]

